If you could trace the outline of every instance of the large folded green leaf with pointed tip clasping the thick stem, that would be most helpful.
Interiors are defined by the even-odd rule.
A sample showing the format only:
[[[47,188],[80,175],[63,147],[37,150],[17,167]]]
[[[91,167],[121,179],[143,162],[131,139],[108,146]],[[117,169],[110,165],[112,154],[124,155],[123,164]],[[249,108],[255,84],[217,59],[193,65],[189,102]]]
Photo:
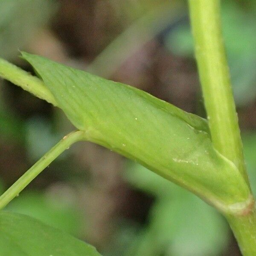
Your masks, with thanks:
[[[191,190],[224,212],[250,204],[236,166],[216,151],[206,120],[134,87],[22,52],[89,140]],[[228,180],[228,182],[227,182]]]

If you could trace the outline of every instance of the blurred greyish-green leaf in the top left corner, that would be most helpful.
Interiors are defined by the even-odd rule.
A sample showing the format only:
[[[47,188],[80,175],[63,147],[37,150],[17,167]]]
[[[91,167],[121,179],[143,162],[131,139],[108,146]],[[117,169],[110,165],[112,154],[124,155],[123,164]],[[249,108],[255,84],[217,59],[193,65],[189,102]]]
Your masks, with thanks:
[[[0,1],[0,55],[12,58],[55,11],[51,0]]]

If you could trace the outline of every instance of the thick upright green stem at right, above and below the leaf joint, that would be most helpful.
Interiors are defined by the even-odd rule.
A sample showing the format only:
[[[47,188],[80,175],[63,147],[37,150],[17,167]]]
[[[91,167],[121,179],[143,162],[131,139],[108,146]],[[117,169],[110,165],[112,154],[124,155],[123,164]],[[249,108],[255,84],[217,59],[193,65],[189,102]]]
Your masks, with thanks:
[[[221,33],[220,1],[189,0],[189,9],[212,143],[237,166],[250,187]],[[256,255],[256,210],[253,204],[243,216],[226,215],[244,255]]]

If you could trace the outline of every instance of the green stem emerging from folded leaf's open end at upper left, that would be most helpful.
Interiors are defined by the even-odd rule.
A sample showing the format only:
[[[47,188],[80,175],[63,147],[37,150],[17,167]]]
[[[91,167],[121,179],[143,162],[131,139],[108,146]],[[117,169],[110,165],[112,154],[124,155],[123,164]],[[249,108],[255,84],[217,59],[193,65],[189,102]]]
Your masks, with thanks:
[[[44,82],[41,79],[32,76],[30,73],[2,58],[0,58],[0,77],[22,87],[24,90],[34,94],[38,98],[44,99],[52,105],[57,106],[57,102],[52,96],[52,93],[44,85]]]

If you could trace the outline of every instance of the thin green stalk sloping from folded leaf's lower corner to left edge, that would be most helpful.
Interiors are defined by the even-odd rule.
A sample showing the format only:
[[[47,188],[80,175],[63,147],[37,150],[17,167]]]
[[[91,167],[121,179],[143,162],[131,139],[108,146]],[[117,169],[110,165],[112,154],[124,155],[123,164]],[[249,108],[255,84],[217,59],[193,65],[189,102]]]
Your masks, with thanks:
[[[0,209],[3,209],[13,198],[36,177],[38,176],[56,157],[73,143],[82,140],[83,131],[73,131],[66,135],[59,143],[51,148],[38,162],[26,171],[3,195],[0,196]]]

